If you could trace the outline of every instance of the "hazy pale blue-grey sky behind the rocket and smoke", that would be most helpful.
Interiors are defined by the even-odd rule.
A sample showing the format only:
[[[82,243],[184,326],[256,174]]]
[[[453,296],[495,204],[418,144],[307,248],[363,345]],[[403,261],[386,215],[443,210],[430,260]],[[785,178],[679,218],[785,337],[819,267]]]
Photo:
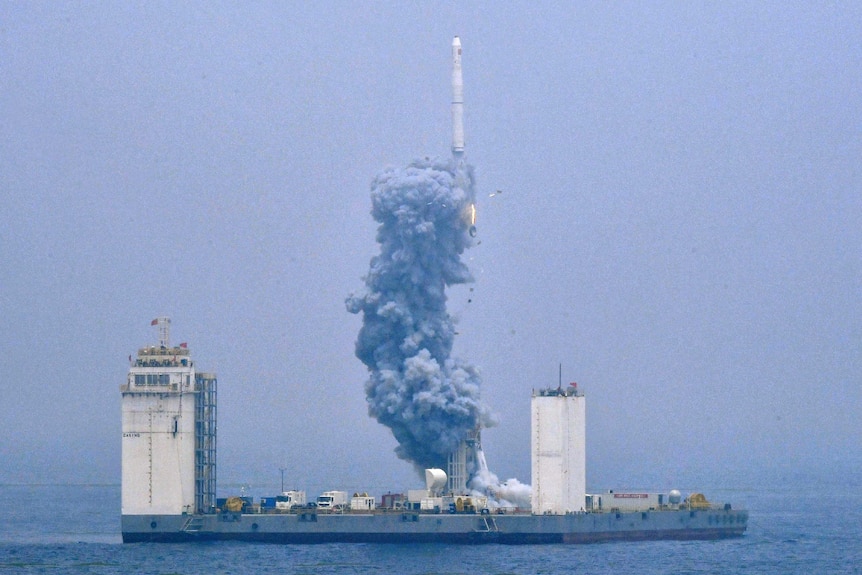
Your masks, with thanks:
[[[344,302],[374,176],[449,154],[455,34],[492,470],[562,364],[589,489],[858,477],[858,3],[245,4],[0,1],[0,482],[119,482],[164,314],[222,486],[415,487]]]

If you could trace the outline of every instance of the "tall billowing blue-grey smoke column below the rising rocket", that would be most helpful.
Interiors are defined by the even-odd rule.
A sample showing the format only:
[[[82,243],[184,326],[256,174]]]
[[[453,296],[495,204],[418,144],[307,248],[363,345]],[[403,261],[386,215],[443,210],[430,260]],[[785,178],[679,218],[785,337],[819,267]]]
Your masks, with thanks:
[[[446,287],[473,280],[473,170],[455,159],[417,160],[372,182],[380,254],[365,289],[347,298],[362,313],[356,356],[368,367],[368,412],[392,429],[396,453],[417,470],[446,468],[467,433],[491,423],[478,370],[450,357],[454,322]]]

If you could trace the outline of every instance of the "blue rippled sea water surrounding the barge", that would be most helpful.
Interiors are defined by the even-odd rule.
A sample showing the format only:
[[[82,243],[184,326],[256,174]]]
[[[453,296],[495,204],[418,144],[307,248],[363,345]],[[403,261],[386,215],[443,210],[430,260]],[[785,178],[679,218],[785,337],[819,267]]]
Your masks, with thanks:
[[[709,493],[750,511],[723,541],[593,545],[129,544],[118,485],[0,485],[0,573],[862,574],[858,488]]]

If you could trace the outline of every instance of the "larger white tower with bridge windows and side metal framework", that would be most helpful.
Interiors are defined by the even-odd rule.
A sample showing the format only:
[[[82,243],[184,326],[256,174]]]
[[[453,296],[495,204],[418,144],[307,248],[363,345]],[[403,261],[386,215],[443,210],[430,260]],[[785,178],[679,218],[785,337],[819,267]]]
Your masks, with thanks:
[[[215,507],[216,376],[196,371],[185,343],[171,347],[169,318],[151,325],[159,345],[138,350],[120,386],[122,514],[205,513]]]

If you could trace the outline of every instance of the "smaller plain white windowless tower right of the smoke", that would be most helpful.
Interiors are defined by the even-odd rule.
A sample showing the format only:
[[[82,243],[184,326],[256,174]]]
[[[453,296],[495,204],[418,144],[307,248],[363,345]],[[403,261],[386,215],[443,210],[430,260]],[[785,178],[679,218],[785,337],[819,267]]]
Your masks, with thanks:
[[[586,502],[586,410],[576,384],[533,391],[534,514],[580,511]]]

